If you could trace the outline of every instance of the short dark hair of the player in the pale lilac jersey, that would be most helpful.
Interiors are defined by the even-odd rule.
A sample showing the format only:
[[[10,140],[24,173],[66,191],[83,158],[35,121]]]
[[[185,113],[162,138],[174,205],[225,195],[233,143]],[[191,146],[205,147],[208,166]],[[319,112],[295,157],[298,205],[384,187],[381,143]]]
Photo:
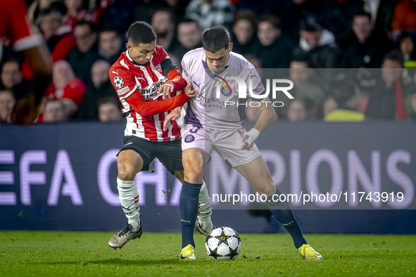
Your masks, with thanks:
[[[215,53],[227,49],[231,43],[228,31],[224,27],[210,27],[202,33],[203,49]]]

